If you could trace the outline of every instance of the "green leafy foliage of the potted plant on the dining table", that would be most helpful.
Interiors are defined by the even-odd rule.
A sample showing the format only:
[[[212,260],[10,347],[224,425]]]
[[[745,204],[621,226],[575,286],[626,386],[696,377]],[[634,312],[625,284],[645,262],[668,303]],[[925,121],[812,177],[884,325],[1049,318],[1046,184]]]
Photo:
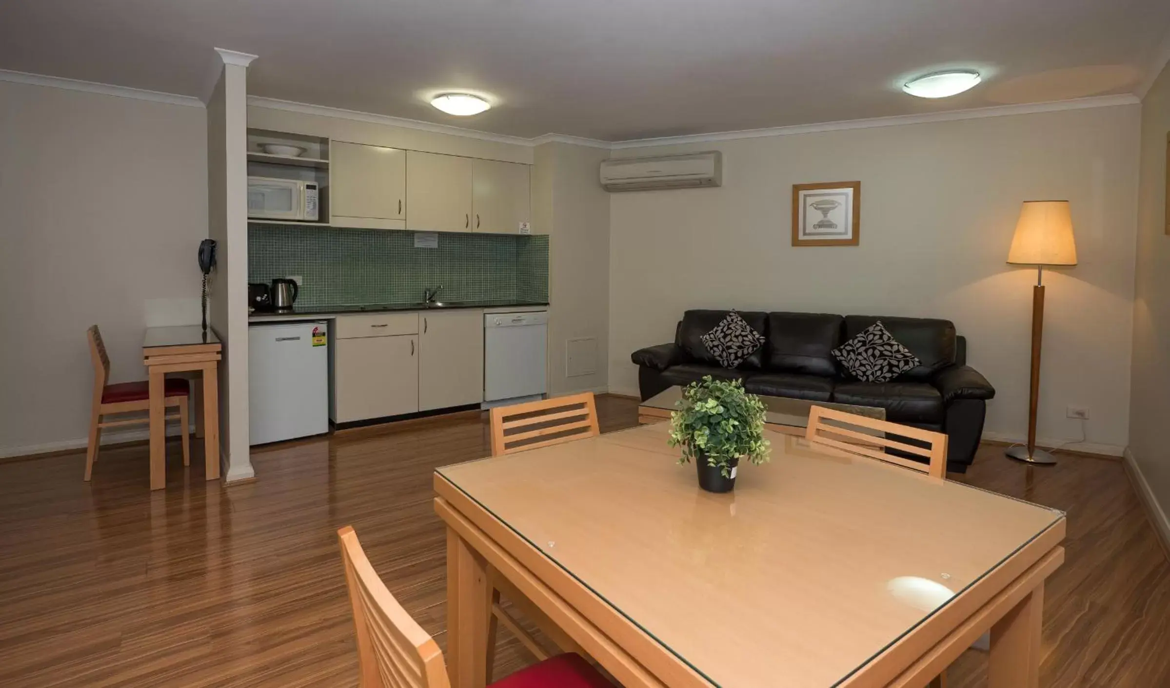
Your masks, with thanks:
[[[670,412],[670,446],[682,446],[679,464],[691,458],[731,477],[731,461],[748,459],[763,464],[769,459],[764,439],[764,402],[743,390],[738,380],[725,382],[710,375],[682,390],[682,398]]]

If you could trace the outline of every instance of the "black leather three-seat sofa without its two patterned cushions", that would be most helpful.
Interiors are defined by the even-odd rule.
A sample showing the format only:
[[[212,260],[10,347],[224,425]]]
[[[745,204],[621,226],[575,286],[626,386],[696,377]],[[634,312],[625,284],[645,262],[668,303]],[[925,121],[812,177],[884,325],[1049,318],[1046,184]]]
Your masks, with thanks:
[[[951,321],[737,311],[766,341],[739,366],[728,369],[700,339],[728,313],[687,311],[673,343],[633,353],[644,401],[704,375],[741,378],[752,394],[881,406],[887,421],[945,432],[949,471],[964,473],[971,465],[983,433],[985,402],[996,390],[966,364],[966,340],[955,333]],[[878,320],[922,364],[890,382],[861,382],[841,367],[832,350]]]

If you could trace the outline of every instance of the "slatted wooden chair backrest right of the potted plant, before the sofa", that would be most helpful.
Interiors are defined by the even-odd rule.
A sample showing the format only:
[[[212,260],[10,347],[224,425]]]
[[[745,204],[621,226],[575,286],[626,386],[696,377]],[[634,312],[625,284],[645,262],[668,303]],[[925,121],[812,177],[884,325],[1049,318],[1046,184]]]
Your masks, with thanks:
[[[832,423],[826,423],[826,421]],[[876,431],[876,435],[851,430],[849,426]],[[925,446],[897,442],[890,439],[889,435],[910,438]],[[833,436],[845,439],[834,439]],[[942,432],[921,430],[918,428],[910,428],[909,425],[890,423],[889,421],[866,418],[855,414],[826,409],[825,406],[813,406],[808,410],[808,428],[805,430],[805,438],[812,443],[828,445],[888,464],[895,464],[903,468],[920,471],[934,478],[947,478],[947,436]],[[887,453],[886,450],[896,450],[923,457],[929,463],[922,464],[913,459]]]

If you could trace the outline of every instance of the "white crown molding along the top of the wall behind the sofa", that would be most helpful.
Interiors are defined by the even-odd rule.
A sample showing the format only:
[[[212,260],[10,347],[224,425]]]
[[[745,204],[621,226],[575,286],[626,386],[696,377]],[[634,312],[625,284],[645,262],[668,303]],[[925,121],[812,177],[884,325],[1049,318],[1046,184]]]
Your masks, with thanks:
[[[1087,107],[1112,107],[1115,105],[1133,105],[1141,103],[1137,96],[1122,93],[1119,96],[1096,96],[1076,98],[1074,100],[1055,100],[1051,103],[1027,103],[1023,105],[996,105],[992,107],[973,107],[970,110],[948,110],[945,112],[927,112],[923,114],[895,114],[872,119],[847,119],[821,124],[797,124],[769,128],[750,128],[742,131],[715,132],[681,137],[661,137],[655,139],[632,139],[613,141],[611,150],[644,148],[647,146],[670,146],[679,144],[707,144],[713,141],[731,141],[735,139],[755,139],[762,137],[783,137],[790,134],[807,134],[853,128],[874,128],[881,126],[902,126],[907,124],[927,124],[931,121],[954,121],[958,119],[979,119],[984,117],[1007,117],[1011,114],[1033,114],[1037,112],[1059,112],[1062,110],[1083,110]]]

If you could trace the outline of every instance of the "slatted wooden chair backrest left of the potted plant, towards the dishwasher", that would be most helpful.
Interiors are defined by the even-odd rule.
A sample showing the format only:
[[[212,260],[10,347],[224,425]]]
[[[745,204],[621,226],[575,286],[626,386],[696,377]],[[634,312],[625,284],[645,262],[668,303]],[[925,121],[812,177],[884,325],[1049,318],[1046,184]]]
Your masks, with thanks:
[[[491,456],[600,433],[593,392],[491,409]]]

